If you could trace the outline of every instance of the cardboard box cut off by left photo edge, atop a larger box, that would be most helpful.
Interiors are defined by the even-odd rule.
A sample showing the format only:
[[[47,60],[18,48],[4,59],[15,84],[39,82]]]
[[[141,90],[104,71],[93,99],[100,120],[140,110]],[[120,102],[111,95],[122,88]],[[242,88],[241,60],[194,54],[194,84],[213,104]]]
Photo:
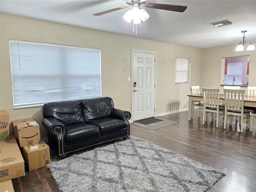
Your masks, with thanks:
[[[0,141],[9,139],[9,114],[6,110],[0,110]]]

